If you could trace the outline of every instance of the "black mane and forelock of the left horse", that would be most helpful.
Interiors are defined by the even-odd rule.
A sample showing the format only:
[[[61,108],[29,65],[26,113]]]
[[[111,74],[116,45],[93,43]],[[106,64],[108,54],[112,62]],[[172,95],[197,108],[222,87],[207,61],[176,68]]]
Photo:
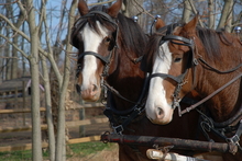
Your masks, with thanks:
[[[107,13],[107,7],[106,5],[97,5],[90,9],[90,11],[102,11]],[[99,21],[101,25],[109,27],[110,25],[114,25],[103,19],[103,16],[99,14],[95,14],[94,16],[77,20],[76,24],[74,25],[76,28],[73,31],[73,44],[75,46],[75,42],[78,43],[78,38],[76,35],[78,35],[78,32],[88,23],[89,26],[96,31],[98,34],[100,34],[100,31],[97,27],[96,21]],[[143,55],[143,50],[147,41],[146,35],[142,31],[142,28],[139,26],[138,23],[135,23],[132,19],[129,19],[124,16],[123,14],[119,13],[117,18],[118,26],[119,26],[119,35],[122,35],[120,37],[122,49],[124,49],[128,54],[129,53],[136,53],[138,56]],[[139,41],[136,41],[139,39]],[[77,45],[77,44],[76,44]]]

